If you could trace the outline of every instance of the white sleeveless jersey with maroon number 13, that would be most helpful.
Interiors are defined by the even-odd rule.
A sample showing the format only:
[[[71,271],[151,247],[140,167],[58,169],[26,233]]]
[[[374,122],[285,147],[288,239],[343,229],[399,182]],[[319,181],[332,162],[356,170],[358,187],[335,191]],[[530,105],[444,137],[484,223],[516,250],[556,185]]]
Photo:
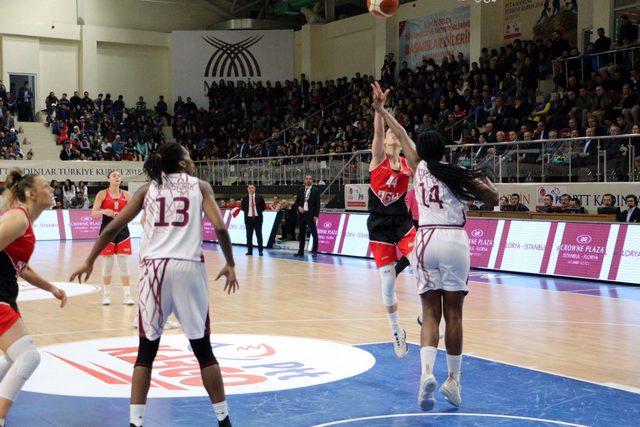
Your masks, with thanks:
[[[141,259],[202,260],[202,192],[186,173],[152,181],[143,204]]]

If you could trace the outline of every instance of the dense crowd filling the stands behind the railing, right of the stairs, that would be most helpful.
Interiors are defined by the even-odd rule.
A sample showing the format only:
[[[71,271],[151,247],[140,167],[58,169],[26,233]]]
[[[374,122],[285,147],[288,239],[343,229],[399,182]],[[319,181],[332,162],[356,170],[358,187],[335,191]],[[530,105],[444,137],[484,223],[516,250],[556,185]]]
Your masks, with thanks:
[[[637,41],[637,27],[628,19],[620,34],[617,47]],[[547,41],[515,40],[482,49],[472,63],[459,53],[439,63],[425,58],[415,69],[403,62],[396,70],[388,54],[381,80],[392,88],[390,106],[411,136],[435,129],[459,144],[450,161],[489,168],[500,156],[533,168],[571,163],[593,169],[599,151],[606,151],[608,178],[627,179],[625,165],[631,147],[640,156],[640,138],[557,141],[640,134],[640,61],[598,55],[611,46],[601,28],[584,54],[559,31]],[[544,93],[539,82],[552,72],[555,90]],[[92,100],[76,92],[67,100],[51,93],[48,123],[64,145],[63,160],[142,160],[163,143],[164,123],[196,160],[351,153],[371,141],[373,79],[356,73],[324,82],[309,81],[304,74],[275,84],[220,81],[210,87],[207,109],[178,97],[172,115],[163,97],[153,109],[142,97],[128,109],[122,96]],[[481,145],[546,139],[556,141],[529,146],[524,154],[512,144]],[[640,170],[640,157],[637,164]]]

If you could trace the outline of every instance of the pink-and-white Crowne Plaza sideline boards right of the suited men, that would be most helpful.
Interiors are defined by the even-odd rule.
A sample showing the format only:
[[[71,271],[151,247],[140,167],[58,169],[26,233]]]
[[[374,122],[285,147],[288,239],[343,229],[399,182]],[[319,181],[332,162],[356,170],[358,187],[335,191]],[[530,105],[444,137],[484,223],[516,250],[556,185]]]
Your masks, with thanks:
[[[321,213],[319,251],[372,258],[367,217]],[[640,224],[468,218],[465,230],[474,268],[640,284]]]

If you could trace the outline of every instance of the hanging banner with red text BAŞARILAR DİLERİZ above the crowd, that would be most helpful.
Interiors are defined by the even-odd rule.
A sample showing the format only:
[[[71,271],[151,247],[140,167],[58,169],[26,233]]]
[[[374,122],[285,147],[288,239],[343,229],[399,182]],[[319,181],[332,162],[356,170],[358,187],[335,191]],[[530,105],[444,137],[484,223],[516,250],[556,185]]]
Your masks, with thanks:
[[[433,58],[440,64],[442,58],[458,56],[462,52],[469,59],[471,41],[471,14],[469,6],[409,19],[400,22],[400,62],[409,68],[422,64],[423,58]]]

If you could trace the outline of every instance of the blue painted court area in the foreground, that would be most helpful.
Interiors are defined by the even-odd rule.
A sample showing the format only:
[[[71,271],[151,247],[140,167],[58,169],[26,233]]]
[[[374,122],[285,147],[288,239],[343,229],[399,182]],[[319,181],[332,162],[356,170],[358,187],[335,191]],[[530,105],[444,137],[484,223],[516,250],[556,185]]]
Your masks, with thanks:
[[[474,357],[463,364],[463,406],[439,393],[432,412],[417,405],[419,349],[396,359],[390,343],[360,346],[375,357],[344,380],[277,392],[228,396],[235,426],[637,426],[640,395]],[[446,377],[442,351],[436,377]],[[123,426],[125,398],[20,394],[7,426]],[[150,399],[146,426],[216,425],[204,397]]]

